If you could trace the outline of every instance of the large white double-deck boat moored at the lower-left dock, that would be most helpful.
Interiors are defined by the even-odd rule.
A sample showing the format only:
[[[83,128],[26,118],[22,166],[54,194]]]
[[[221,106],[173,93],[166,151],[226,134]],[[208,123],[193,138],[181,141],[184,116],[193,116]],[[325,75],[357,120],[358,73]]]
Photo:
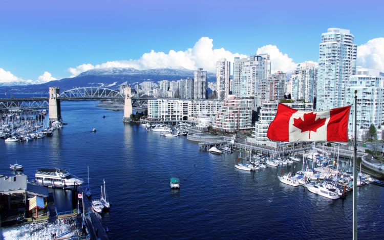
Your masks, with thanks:
[[[67,170],[40,168],[36,170],[35,182],[43,186],[75,188],[76,185],[81,185],[83,180],[73,176]]]

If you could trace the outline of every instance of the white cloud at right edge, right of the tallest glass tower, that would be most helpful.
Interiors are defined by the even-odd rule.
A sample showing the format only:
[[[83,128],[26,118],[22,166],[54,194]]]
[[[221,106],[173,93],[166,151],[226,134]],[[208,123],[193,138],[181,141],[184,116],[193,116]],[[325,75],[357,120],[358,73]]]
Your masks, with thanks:
[[[384,37],[371,39],[357,47],[357,66],[384,72]]]

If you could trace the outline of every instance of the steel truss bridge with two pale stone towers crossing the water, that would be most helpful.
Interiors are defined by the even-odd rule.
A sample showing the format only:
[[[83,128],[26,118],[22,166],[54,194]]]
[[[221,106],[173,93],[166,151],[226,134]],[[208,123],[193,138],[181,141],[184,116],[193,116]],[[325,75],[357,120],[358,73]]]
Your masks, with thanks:
[[[147,98],[132,98],[130,86],[125,86],[121,92],[106,88],[76,88],[60,93],[59,88],[50,87],[49,97],[36,98],[6,98],[0,99],[1,110],[35,110],[49,108],[50,123],[59,121],[61,116],[61,101],[76,100],[124,100],[123,122],[131,121],[132,106],[142,107],[148,102]]]

